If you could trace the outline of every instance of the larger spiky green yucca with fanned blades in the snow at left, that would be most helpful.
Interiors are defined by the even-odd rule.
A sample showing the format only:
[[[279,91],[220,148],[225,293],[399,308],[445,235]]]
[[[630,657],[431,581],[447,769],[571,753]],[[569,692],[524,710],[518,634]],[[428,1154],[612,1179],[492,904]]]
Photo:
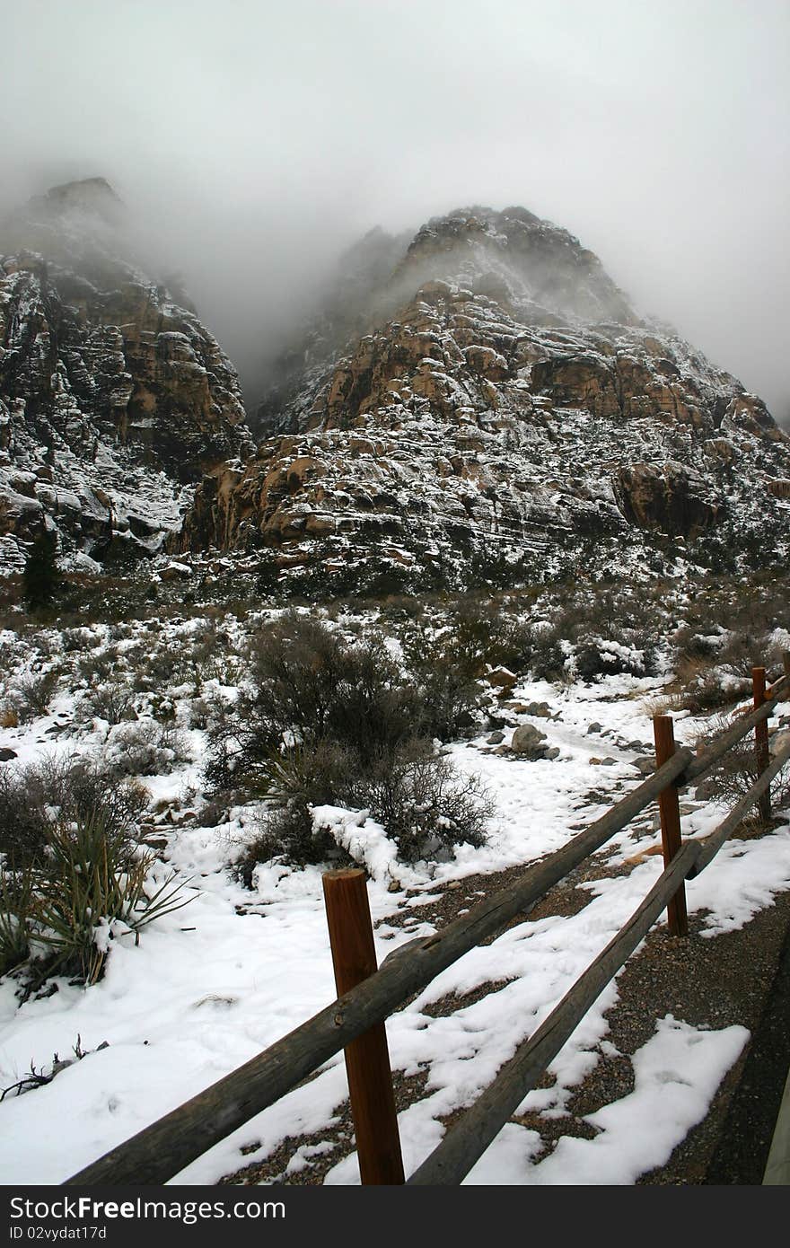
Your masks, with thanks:
[[[32,934],[49,952],[47,973],[95,983],[114,936],[139,934],[151,920],[192,900],[182,896],[175,871],[152,884],[154,861],[126,834],[107,830],[100,814],[52,825],[46,865],[36,871]]]

